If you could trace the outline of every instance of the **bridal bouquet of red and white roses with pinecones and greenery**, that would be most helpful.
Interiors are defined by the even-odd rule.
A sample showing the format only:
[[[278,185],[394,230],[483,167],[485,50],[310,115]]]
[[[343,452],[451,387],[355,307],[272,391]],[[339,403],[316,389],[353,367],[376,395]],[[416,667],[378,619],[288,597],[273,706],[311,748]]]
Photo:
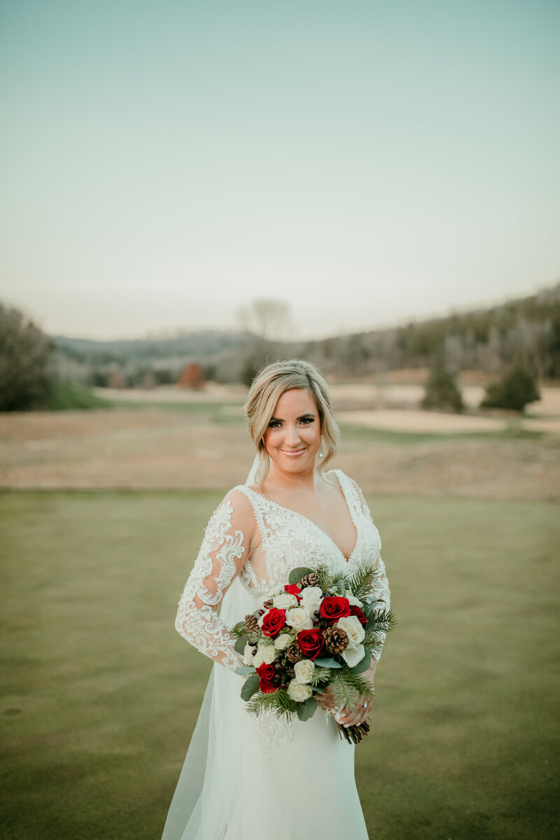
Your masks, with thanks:
[[[262,608],[232,627],[249,711],[273,709],[278,717],[306,721],[317,709],[315,695],[329,687],[340,708],[355,709],[359,696],[373,696],[364,671],[380,651],[379,633],[395,624],[385,601],[371,594],[377,574],[374,565],[336,578],[324,566],[294,569]],[[338,723],[338,732],[359,743],[369,726]]]

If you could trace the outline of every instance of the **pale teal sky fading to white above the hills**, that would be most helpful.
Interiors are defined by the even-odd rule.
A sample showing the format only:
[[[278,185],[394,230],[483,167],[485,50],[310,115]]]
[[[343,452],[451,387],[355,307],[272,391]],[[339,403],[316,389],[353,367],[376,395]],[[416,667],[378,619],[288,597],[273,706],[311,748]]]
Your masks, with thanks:
[[[402,323],[560,280],[557,0],[0,0],[0,301]]]

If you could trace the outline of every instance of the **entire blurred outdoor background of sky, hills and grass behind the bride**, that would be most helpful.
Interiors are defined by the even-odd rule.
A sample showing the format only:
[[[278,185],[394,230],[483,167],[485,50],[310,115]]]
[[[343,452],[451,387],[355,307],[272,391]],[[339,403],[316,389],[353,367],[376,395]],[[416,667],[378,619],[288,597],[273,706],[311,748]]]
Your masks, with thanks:
[[[557,836],[559,36],[545,0],[0,4],[3,837],[160,837],[211,665],[176,601],[295,356],[399,619],[370,837]]]

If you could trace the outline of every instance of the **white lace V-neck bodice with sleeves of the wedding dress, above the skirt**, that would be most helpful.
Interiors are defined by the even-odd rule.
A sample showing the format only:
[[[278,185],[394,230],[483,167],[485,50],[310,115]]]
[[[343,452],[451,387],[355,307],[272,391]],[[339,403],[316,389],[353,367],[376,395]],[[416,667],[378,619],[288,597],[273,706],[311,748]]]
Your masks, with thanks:
[[[202,654],[231,670],[243,664],[233,647],[233,636],[217,614],[236,575],[257,609],[271,590],[287,582],[290,570],[298,566],[315,568],[327,564],[333,572],[352,573],[373,562],[379,568],[374,594],[389,608],[390,590],[379,554],[381,539],[369,507],[348,475],[342,470],[332,470],[332,473],[338,479],[356,528],[356,543],[348,558],[311,519],[270,501],[248,486],[234,487],[217,507],[186,581],[175,620],[177,631]],[[236,527],[236,505],[240,504],[241,496],[249,500],[259,528],[260,543],[256,550],[251,549],[250,534]],[[239,616],[238,621],[242,620],[243,616]],[[385,633],[380,633],[380,646],[384,641]],[[379,655],[380,647],[378,659]]]

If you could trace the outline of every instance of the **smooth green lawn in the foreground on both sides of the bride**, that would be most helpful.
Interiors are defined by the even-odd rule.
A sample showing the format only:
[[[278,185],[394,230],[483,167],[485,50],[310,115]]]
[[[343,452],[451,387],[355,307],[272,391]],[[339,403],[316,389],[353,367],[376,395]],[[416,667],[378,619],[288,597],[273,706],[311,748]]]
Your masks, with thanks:
[[[6,840],[160,837],[211,665],[176,602],[221,496],[0,494]],[[370,837],[556,837],[556,507],[369,501],[399,620],[356,750]]]

